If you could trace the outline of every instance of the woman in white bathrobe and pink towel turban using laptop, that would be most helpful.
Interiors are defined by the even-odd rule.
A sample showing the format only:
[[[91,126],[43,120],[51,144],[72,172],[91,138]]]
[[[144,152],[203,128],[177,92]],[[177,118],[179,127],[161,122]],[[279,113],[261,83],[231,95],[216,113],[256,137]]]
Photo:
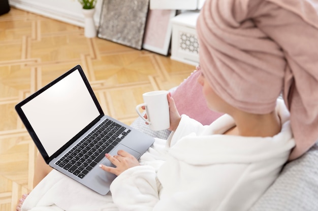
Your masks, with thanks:
[[[180,116],[168,95],[167,141],[157,139],[139,161],[106,154],[115,167],[100,167],[118,175],[111,195],[52,171],[22,210],[248,210],[318,139],[313,4],[207,0],[197,23],[198,82],[208,107],[226,114],[204,126]]]

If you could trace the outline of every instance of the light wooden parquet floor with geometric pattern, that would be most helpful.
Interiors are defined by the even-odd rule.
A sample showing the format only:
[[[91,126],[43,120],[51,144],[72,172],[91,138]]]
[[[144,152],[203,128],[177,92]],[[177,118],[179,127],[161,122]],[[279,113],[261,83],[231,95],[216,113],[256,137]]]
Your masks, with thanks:
[[[12,8],[0,16],[0,210],[33,187],[37,149],[14,106],[80,64],[104,112],[127,124],[142,93],[178,86],[195,67],[100,38],[83,28]]]

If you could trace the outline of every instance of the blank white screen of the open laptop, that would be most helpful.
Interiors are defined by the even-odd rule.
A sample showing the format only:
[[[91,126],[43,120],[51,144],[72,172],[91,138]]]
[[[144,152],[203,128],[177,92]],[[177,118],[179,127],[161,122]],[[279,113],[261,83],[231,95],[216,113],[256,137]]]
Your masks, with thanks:
[[[21,109],[48,156],[100,115],[78,70],[27,102]]]

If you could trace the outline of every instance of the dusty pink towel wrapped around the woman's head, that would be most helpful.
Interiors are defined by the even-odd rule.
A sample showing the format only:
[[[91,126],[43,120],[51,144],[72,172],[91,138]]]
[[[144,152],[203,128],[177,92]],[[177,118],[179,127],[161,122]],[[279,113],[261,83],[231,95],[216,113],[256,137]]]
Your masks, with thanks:
[[[201,70],[229,104],[265,114],[282,93],[290,160],[318,140],[318,1],[206,0],[197,33]]]

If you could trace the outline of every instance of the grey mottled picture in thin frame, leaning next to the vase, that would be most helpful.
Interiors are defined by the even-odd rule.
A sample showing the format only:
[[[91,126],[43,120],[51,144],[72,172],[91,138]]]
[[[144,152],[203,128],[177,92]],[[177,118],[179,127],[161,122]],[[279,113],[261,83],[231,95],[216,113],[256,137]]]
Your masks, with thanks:
[[[142,49],[149,0],[104,0],[98,37]]]

